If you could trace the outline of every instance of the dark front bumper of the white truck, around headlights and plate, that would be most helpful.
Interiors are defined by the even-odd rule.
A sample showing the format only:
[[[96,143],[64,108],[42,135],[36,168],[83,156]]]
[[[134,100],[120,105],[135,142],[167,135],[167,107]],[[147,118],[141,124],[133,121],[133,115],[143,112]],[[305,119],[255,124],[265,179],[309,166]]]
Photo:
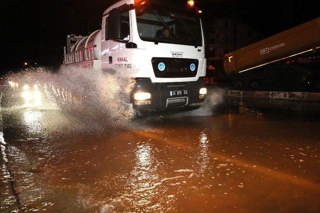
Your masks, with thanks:
[[[200,103],[205,95],[200,95],[200,88],[205,88],[203,78],[190,82],[152,83],[150,78],[136,78],[136,84],[131,95],[131,103],[136,110],[152,110]],[[182,94],[171,95],[172,91],[181,91]],[[186,91],[187,94],[183,94]],[[146,92],[151,95],[146,100],[134,99],[137,92]],[[178,92],[177,92],[178,93]]]

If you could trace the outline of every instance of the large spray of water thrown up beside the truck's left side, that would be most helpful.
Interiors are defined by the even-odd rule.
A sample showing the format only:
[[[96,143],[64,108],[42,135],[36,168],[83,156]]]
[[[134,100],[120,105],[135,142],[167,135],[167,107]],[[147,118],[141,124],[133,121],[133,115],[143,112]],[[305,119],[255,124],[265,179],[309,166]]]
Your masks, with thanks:
[[[8,78],[39,85],[48,100],[90,130],[120,127],[134,116],[129,104],[134,81],[128,78],[125,70],[108,73],[99,69],[65,67],[52,72],[40,67],[11,73]]]

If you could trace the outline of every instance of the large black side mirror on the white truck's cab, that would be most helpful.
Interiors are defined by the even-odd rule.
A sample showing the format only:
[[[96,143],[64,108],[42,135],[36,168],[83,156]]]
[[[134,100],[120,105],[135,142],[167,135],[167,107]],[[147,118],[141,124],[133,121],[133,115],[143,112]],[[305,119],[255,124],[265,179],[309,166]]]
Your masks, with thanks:
[[[121,38],[121,11],[112,9],[109,13],[109,38],[118,42],[127,42]]]

